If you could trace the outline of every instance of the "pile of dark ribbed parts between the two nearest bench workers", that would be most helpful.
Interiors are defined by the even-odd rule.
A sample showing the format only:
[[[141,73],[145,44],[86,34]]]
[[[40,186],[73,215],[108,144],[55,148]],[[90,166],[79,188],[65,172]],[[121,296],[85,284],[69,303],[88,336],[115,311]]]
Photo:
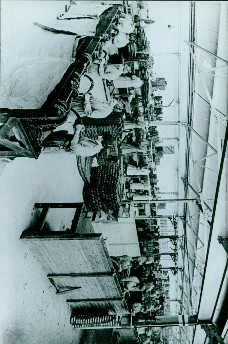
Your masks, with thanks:
[[[121,141],[124,120],[122,113],[112,112],[111,115],[102,119],[83,117],[85,136],[97,140],[99,136],[109,133],[117,142]]]

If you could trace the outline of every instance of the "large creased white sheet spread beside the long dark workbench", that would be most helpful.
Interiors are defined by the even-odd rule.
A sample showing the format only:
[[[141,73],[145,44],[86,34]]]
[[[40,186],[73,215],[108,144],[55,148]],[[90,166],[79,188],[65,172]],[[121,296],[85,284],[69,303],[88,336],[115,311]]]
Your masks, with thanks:
[[[88,26],[80,28],[81,33],[86,33],[89,29]],[[74,61],[72,51],[75,37],[52,33],[30,25],[20,34],[11,37],[10,42],[3,41],[1,108],[41,107]]]

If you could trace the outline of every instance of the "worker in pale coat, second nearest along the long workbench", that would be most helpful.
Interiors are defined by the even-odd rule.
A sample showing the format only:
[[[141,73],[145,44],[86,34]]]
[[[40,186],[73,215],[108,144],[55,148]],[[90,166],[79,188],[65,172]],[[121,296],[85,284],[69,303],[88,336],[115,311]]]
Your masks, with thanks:
[[[80,117],[105,118],[109,116],[113,110],[122,112],[123,106],[123,100],[120,98],[105,101],[94,98],[90,94],[85,94],[84,97],[78,97],[73,100],[71,109],[73,108]]]

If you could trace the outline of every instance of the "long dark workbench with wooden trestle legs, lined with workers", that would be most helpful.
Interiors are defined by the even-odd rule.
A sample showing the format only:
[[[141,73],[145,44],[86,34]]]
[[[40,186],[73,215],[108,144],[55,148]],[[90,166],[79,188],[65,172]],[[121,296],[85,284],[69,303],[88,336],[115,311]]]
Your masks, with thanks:
[[[92,54],[98,49],[102,40],[109,39],[110,25],[120,10],[119,5],[104,11],[100,16],[95,36],[87,36],[79,41],[75,62],[67,69],[59,84],[49,94],[39,109],[2,108],[0,130],[0,157],[29,157],[37,159],[42,146],[39,142],[41,129],[53,130],[67,120],[73,98],[78,96],[81,75],[92,62]],[[10,141],[15,135],[18,142]]]

